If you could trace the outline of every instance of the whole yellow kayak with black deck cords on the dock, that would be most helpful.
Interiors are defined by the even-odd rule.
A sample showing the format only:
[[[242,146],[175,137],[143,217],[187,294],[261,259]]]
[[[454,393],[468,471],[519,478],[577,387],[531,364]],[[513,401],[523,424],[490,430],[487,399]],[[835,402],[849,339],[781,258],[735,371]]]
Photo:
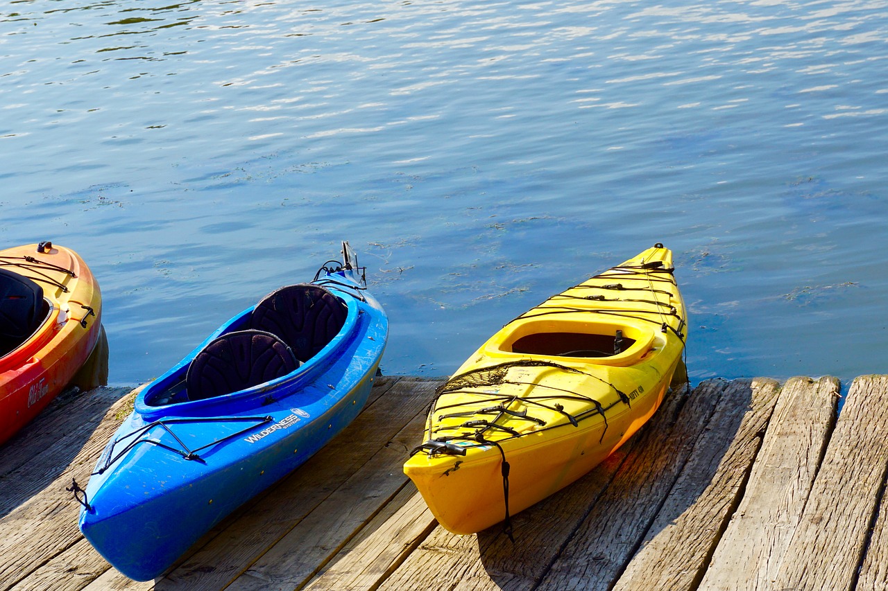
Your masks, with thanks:
[[[686,312],[662,244],[512,320],[432,404],[404,473],[438,522],[474,533],[597,466],[660,406]]]

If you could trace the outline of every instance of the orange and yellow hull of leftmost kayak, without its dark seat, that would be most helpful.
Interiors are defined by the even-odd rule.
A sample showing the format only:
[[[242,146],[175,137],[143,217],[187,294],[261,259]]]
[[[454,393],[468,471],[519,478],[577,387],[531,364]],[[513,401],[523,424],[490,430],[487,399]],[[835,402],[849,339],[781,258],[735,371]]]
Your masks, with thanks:
[[[0,357],[0,444],[48,406],[71,382],[99,340],[99,283],[70,248],[37,244],[0,250],[0,268],[43,288],[39,327]]]

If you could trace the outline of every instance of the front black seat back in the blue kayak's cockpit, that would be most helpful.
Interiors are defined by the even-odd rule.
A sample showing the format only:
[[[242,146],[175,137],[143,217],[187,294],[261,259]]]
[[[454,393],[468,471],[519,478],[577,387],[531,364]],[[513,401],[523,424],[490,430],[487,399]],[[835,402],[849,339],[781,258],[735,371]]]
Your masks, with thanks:
[[[214,339],[198,353],[185,376],[189,400],[231,394],[282,377],[299,362],[286,343],[260,330]]]

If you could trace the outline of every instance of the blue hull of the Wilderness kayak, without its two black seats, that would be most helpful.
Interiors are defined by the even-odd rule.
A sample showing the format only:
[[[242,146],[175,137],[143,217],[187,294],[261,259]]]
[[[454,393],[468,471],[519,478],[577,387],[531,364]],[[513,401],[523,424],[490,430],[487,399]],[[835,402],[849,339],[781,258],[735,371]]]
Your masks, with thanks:
[[[210,528],[307,461],[361,412],[388,320],[353,269],[313,283],[345,304],[347,318],[295,371],[214,398],[158,402],[182,400],[195,356],[219,335],[242,329],[251,307],[137,394],[133,412],[78,493],[83,535],[127,577],[163,574]]]

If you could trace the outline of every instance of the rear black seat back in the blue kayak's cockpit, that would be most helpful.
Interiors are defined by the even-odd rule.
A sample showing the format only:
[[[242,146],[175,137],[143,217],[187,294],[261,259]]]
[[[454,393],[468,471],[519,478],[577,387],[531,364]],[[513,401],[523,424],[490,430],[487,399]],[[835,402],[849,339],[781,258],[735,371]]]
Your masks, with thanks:
[[[339,334],[347,316],[348,307],[329,289],[298,283],[263,298],[250,316],[250,328],[279,336],[305,362]]]

